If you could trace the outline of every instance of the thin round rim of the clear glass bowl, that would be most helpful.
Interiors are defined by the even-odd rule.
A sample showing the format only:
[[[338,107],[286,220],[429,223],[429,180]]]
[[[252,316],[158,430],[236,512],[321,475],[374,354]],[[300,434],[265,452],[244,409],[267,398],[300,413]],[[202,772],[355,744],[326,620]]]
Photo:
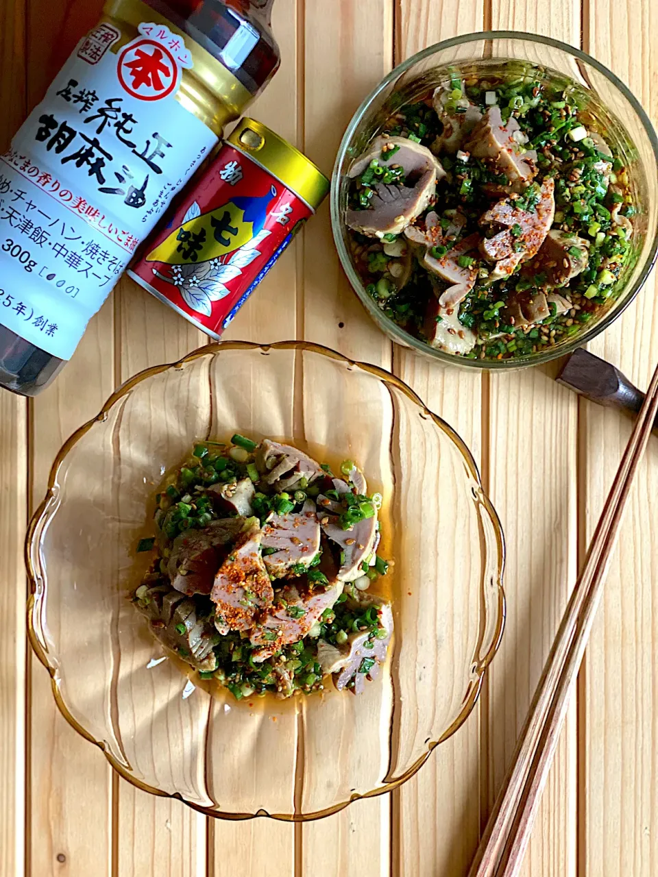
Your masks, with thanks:
[[[647,282],[647,277],[651,273],[652,268],[654,267],[656,254],[658,254],[658,225],[654,229],[654,239],[651,244],[651,248],[649,253],[647,254],[647,259],[645,261],[644,266],[640,270],[640,274],[633,282],[633,284],[624,291],[623,297],[619,299],[619,304],[615,308],[615,310],[609,310],[604,317],[602,317],[598,323],[591,327],[591,329],[583,332],[582,335],[578,336],[578,338],[569,344],[561,345],[555,348],[549,348],[545,353],[532,353],[527,357],[519,357],[519,359],[511,359],[511,360],[468,360],[466,357],[456,357],[453,353],[445,353],[441,350],[434,350],[433,347],[424,344],[419,339],[415,338],[409,332],[404,332],[404,329],[401,329],[397,323],[394,323],[393,320],[386,317],[383,314],[382,310],[380,310],[376,304],[374,303],[371,296],[368,296],[368,293],[363,287],[363,283],[361,282],[360,276],[354,270],[352,265],[352,260],[349,257],[349,253],[347,253],[347,248],[343,241],[342,237],[342,227],[343,220],[341,216],[340,210],[340,178],[339,178],[339,169],[343,160],[345,160],[345,155],[347,153],[347,147],[352,140],[354,135],[354,131],[360,125],[361,118],[364,113],[368,110],[370,104],[375,100],[376,96],[378,96],[383,89],[386,89],[391,82],[395,82],[397,78],[403,75],[408,69],[413,67],[418,61],[424,61],[426,58],[429,58],[431,55],[440,52],[443,49],[452,48],[453,46],[461,46],[466,43],[472,43],[479,40],[486,39],[511,39],[519,42],[533,42],[540,43],[544,46],[551,46],[552,48],[560,49],[562,52],[572,55],[574,58],[579,61],[584,61],[590,67],[597,69],[597,71],[603,74],[612,85],[617,88],[623,96],[626,97],[626,100],[631,104],[633,110],[637,113],[638,118],[644,127],[645,132],[647,133],[647,138],[652,146],[654,151],[654,158],[656,161],[656,166],[658,166],[658,137],[656,136],[654,126],[651,123],[651,120],[648,118],[647,113],[642,109],[642,106],[638,99],[633,95],[633,92],[622,82],[618,76],[612,73],[612,70],[609,70],[602,64],[600,61],[597,61],[596,58],[592,58],[591,55],[583,52],[581,49],[576,48],[576,46],[569,46],[567,43],[561,42],[559,39],[553,39],[552,37],[544,37],[538,33],[527,33],[525,31],[478,31],[474,33],[465,33],[459,37],[452,37],[451,39],[441,40],[440,43],[434,43],[433,46],[428,46],[426,49],[423,49],[421,52],[417,52],[416,54],[411,55],[411,58],[408,58],[406,61],[403,61],[401,64],[398,64],[396,68],[393,68],[388,75],[386,75],[375,89],[373,89],[370,94],[363,100],[358,110],[354,112],[354,116],[352,117],[349,125],[347,125],[347,130],[343,135],[343,139],[340,141],[340,148],[338,154],[336,156],[336,161],[333,166],[333,174],[332,174],[332,190],[331,190],[331,211],[332,211],[332,231],[333,231],[333,240],[336,245],[336,249],[338,250],[338,254],[340,257],[340,263],[343,267],[343,270],[347,274],[347,278],[354,289],[354,292],[361,299],[361,303],[368,310],[369,315],[375,320],[375,323],[380,327],[385,327],[385,332],[389,334],[389,336],[394,337],[398,343],[403,346],[411,347],[416,352],[422,353],[426,356],[432,357],[434,360],[438,360],[446,365],[457,365],[459,367],[466,368],[484,368],[489,370],[502,370],[502,371],[514,371],[519,368],[525,368],[528,366],[537,366],[543,363],[549,362],[550,360],[558,359],[561,356],[567,356],[569,353],[573,353],[577,347],[582,347],[586,345],[591,339],[596,338],[596,336],[600,332],[604,332],[614,320],[619,317],[619,315],[626,310],[628,305],[633,302],[635,296],[640,292],[640,289],[644,286],[645,282]]]

